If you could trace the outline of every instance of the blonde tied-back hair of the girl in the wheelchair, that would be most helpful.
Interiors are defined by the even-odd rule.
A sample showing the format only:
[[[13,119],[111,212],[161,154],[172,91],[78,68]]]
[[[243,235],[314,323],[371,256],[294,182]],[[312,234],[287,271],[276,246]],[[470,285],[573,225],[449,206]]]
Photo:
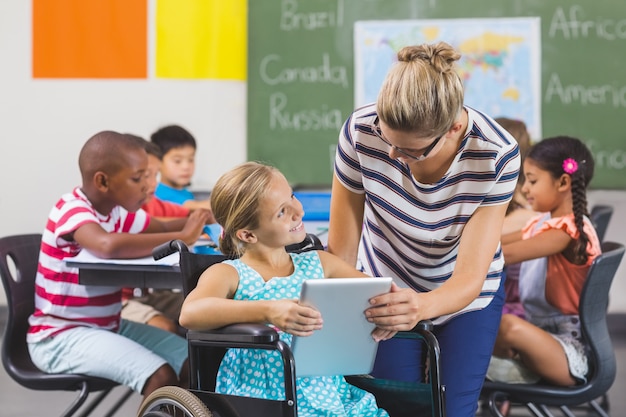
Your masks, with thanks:
[[[272,177],[279,171],[258,162],[246,162],[223,174],[211,192],[211,208],[224,232],[219,239],[220,251],[229,256],[243,255],[244,245],[237,230],[256,229],[259,204]]]

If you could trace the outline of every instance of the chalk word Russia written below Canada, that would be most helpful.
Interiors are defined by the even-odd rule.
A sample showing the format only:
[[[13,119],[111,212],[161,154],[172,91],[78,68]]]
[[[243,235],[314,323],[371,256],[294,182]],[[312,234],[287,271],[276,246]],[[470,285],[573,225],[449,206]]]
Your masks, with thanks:
[[[272,130],[338,130],[343,123],[341,110],[323,104],[316,109],[290,111],[287,95],[273,93],[269,102],[269,125]]]

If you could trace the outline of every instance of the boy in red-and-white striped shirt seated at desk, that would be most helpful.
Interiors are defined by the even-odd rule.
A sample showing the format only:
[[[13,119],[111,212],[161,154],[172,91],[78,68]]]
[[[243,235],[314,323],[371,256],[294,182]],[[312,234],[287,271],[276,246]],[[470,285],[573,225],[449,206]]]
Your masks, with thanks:
[[[144,396],[185,384],[185,339],[120,319],[121,288],[81,285],[78,270],[64,260],[83,249],[102,258],[137,258],[171,239],[191,244],[209,213],[198,210],[167,224],[151,220],[141,210],[148,157],[130,135],[97,133],[83,146],[79,166],[82,186],[54,205],[43,232],[27,335],[31,358],[44,372],[107,378]]]

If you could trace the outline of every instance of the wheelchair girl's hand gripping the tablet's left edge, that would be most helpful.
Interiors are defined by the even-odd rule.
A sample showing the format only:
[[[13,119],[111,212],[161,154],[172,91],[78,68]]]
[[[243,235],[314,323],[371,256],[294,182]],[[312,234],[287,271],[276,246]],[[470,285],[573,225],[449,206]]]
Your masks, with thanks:
[[[294,336],[310,336],[322,328],[322,314],[312,307],[298,304],[298,300],[273,301],[268,321],[280,330]]]

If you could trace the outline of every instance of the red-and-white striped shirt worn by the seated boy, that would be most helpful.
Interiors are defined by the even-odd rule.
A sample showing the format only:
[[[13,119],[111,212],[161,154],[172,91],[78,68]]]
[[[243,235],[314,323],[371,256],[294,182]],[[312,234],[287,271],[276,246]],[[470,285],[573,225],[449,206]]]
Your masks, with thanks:
[[[129,213],[119,206],[104,216],[79,188],[63,195],[52,208],[42,235],[35,311],[29,318],[27,341],[38,342],[77,326],[117,330],[121,288],[80,285],[78,269],[69,268],[64,260],[78,255],[81,247],[63,237],[88,223],[97,223],[109,233],[140,233],[149,222],[143,210]]]

